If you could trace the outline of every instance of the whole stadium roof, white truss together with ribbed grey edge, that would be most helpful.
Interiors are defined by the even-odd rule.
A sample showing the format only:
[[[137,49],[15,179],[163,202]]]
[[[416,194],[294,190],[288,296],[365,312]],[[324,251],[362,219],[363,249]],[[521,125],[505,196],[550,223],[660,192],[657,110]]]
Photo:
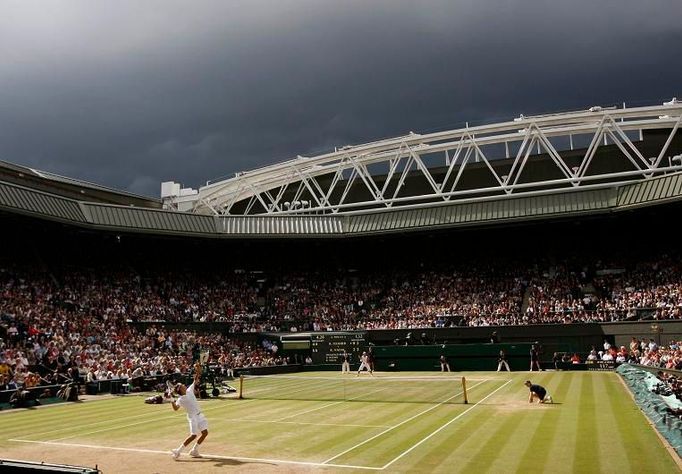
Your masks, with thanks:
[[[0,163],[0,213],[217,238],[338,238],[603,215],[682,201],[681,117],[682,103],[672,100],[410,133],[239,173],[198,193],[180,190],[164,209],[82,183],[65,190],[63,180],[27,180],[26,169]]]

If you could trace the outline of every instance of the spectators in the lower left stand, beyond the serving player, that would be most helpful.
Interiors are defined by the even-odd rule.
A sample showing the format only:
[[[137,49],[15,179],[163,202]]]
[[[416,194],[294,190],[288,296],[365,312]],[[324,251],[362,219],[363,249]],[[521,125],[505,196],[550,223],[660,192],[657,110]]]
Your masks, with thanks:
[[[17,325],[13,322],[11,327]],[[184,374],[200,353],[226,373],[287,364],[267,340],[257,346],[154,326],[140,332],[125,323],[106,324],[96,318],[80,322],[43,318],[20,327],[7,341],[0,340],[0,390]]]

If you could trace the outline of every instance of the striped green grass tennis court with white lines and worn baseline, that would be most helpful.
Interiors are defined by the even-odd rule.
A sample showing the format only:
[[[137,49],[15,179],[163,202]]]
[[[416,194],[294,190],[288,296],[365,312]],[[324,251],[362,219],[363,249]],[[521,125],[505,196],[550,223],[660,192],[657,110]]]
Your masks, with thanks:
[[[311,375],[321,386],[342,377]],[[389,375],[396,376],[377,377]],[[104,472],[680,472],[615,373],[532,374],[553,405],[528,404],[529,373],[397,375],[451,378],[454,389],[465,375],[469,404],[450,389],[452,400],[420,402],[410,392],[426,385],[419,380],[376,385],[371,401],[339,397],[333,381],[329,393],[306,382],[316,391],[310,399],[210,399],[201,402],[210,424],[205,457],[176,462],[170,449],[187,435],[184,412],[126,396],[1,412],[1,457],[98,464]],[[292,392],[308,390],[287,380]],[[267,393],[268,382],[258,383]]]

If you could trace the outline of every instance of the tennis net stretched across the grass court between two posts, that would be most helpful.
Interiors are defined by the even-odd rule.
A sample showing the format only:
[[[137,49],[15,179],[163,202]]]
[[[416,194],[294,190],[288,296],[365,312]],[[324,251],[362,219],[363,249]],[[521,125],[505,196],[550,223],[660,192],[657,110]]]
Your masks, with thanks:
[[[464,377],[244,375],[239,397],[266,400],[466,403]]]

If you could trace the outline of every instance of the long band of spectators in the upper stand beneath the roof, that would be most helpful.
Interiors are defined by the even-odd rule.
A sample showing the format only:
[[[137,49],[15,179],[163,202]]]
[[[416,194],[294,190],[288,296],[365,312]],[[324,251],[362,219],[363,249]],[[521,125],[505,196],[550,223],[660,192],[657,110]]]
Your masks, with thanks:
[[[682,266],[661,255],[588,268],[507,262],[401,272],[0,269],[0,315],[221,322],[232,333],[566,324],[682,318]],[[30,325],[30,324],[29,324]]]

